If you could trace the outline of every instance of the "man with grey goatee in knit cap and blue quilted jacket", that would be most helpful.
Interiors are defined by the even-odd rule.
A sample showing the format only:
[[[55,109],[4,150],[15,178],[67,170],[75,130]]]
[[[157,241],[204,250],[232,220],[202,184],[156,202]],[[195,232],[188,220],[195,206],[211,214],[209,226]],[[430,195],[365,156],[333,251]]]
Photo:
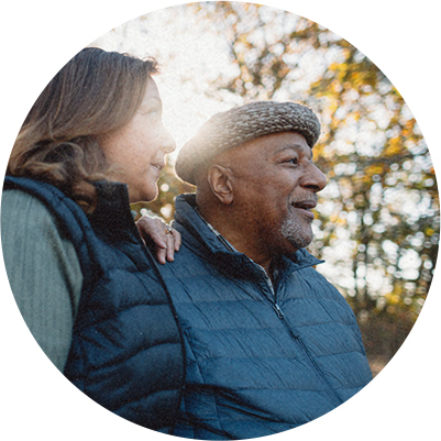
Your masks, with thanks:
[[[212,117],[178,155],[197,192],[176,200],[183,246],[159,268],[186,346],[175,436],[280,432],[372,379],[352,310],[305,250],[326,186],[319,134],[305,106],[254,102]]]

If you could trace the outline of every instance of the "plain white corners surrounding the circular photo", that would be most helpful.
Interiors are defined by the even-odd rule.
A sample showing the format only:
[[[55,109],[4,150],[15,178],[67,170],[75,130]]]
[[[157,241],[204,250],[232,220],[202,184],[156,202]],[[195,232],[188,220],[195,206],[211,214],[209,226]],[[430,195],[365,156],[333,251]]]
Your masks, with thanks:
[[[29,109],[68,59],[110,29],[177,3],[22,0],[8,1],[8,7],[3,4],[0,179]],[[441,173],[437,145],[441,67],[437,2],[267,0],[264,3],[313,20],[367,55],[405,98],[429,145],[436,170]],[[406,343],[368,387],[331,414],[272,438],[438,440],[441,418],[439,273]],[[163,438],[114,417],[78,393],[51,364],[24,326],[2,261],[0,277],[1,438],[46,441]]]

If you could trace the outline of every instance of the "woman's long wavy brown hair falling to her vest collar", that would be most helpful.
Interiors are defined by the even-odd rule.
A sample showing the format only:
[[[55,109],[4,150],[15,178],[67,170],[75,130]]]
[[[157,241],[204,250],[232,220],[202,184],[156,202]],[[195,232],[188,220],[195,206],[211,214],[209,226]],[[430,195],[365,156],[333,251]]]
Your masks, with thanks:
[[[134,117],[153,58],[142,60],[88,47],[51,80],[29,112],[8,163],[7,174],[58,187],[87,213],[96,206],[95,180],[109,164],[98,139]]]

